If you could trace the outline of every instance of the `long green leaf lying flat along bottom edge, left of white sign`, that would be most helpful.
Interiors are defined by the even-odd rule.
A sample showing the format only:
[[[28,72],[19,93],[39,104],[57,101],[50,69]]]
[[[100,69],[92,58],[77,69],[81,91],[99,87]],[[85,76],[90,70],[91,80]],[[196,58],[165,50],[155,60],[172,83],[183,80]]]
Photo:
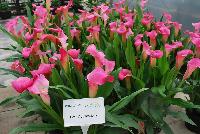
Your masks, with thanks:
[[[29,124],[26,126],[17,127],[13,129],[9,134],[19,134],[21,132],[38,132],[38,131],[49,132],[58,129],[62,130],[62,128],[56,124],[46,124],[46,123]]]

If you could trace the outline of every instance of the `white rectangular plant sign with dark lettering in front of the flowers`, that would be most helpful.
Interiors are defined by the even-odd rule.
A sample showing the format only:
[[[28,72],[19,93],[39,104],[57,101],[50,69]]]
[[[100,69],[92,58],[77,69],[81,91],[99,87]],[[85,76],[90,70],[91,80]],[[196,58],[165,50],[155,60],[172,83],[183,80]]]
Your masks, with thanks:
[[[63,101],[64,126],[90,126],[105,123],[104,98],[69,99]]]

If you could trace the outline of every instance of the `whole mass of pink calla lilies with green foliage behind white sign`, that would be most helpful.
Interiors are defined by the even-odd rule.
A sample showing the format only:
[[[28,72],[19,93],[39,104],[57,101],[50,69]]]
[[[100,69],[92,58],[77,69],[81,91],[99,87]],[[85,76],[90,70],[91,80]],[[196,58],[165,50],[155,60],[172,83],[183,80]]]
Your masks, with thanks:
[[[140,4],[140,5],[139,5]],[[17,77],[12,82],[19,96],[0,105],[17,102],[25,108],[21,117],[39,114],[43,123],[14,129],[81,133],[80,126],[64,127],[63,100],[103,97],[106,123],[91,125],[88,134],[173,133],[165,122],[171,115],[194,124],[185,113],[171,111],[170,105],[197,108],[176,99],[186,92],[184,83],[199,67],[200,59],[181,32],[181,24],[165,13],[156,21],[146,12],[146,1],[129,10],[125,1],[71,13],[73,1],[50,13],[51,1],[34,6],[34,14],[18,16],[1,30],[17,42],[2,48],[18,54],[4,60]],[[30,11],[30,10],[27,10]],[[22,27],[17,29],[18,21]],[[189,71],[183,66],[189,64]],[[190,70],[191,66],[195,66]],[[183,79],[182,79],[183,78]],[[182,79],[182,80],[181,80]]]

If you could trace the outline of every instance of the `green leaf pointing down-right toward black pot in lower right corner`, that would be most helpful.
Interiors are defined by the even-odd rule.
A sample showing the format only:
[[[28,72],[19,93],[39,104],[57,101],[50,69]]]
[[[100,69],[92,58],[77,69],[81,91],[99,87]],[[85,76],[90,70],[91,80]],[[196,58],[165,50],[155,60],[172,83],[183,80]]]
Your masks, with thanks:
[[[183,112],[169,112],[170,115],[172,115],[175,118],[179,118],[187,123],[190,123],[191,125],[196,125],[185,113]]]

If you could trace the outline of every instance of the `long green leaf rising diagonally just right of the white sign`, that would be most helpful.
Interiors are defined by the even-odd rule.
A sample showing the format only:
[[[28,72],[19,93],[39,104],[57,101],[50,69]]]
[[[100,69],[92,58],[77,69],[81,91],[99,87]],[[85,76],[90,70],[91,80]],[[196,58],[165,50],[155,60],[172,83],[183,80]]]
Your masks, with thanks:
[[[114,104],[110,107],[109,111],[110,111],[110,112],[116,112],[116,111],[118,111],[118,110],[124,108],[124,107],[125,107],[126,105],[128,105],[128,103],[131,102],[137,95],[139,95],[140,93],[142,93],[142,92],[144,92],[144,91],[146,91],[146,90],[148,90],[148,88],[142,88],[142,89],[140,89],[140,90],[138,90],[138,91],[132,93],[131,95],[122,98],[120,101],[114,103]]]

